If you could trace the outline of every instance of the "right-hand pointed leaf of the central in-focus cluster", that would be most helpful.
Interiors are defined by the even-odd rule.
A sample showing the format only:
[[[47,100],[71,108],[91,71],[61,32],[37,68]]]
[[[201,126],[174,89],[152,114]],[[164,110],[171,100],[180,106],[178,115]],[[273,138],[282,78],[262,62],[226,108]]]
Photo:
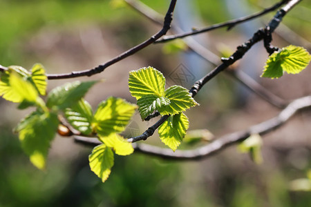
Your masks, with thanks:
[[[170,103],[164,107],[157,108],[161,115],[176,115],[179,112],[198,105],[191,97],[189,91],[182,86],[171,86],[165,90],[165,97]]]

